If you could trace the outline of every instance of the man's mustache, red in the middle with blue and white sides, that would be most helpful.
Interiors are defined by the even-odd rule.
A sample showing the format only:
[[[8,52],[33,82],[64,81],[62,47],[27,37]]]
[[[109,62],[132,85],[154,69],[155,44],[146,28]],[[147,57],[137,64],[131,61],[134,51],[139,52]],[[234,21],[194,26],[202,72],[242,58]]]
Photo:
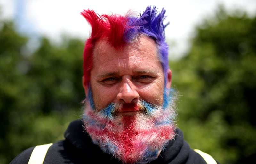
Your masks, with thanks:
[[[138,100],[137,103],[110,103],[106,108],[100,109],[100,113],[110,120],[114,119],[117,113],[125,111],[140,111],[145,115],[152,115],[162,106],[156,106],[147,103],[144,100]]]

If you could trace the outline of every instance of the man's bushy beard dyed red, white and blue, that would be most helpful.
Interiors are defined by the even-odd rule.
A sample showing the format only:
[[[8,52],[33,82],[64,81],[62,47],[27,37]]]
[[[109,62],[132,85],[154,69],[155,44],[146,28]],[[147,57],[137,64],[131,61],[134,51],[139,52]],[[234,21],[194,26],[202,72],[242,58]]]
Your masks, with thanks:
[[[148,161],[157,157],[159,151],[164,150],[168,141],[175,136],[175,105],[170,101],[171,96],[164,99],[169,99],[165,109],[139,101],[132,106],[140,112],[124,115],[117,114],[123,110],[120,103],[111,103],[97,111],[90,98],[87,98],[84,110],[85,130],[104,152],[123,163]]]

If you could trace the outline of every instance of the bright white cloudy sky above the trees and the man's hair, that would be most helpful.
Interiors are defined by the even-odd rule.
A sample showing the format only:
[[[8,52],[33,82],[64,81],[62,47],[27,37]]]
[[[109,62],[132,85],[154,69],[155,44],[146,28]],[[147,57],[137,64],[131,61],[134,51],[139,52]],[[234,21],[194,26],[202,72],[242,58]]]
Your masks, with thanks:
[[[144,11],[147,5],[166,9],[166,38],[172,42],[173,58],[188,49],[188,39],[193,29],[203,18],[212,16],[218,4],[228,11],[241,9],[256,15],[256,0],[0,0],[4,18],[12,18],[19,30],[33,35],[46,35],[58,41],[62,33],[86,39],[90,27],[80,15],[83,9],[92,9],[98,14],[125,14],[128,10]],[[145,3],[146,2],[146,3]],[[166,3],[168,2],[168,3]]]

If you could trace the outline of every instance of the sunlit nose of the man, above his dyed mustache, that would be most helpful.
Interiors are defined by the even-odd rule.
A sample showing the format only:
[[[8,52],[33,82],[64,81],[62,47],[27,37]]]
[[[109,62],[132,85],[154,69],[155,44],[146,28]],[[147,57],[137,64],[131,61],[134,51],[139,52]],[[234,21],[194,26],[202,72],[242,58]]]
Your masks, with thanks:
[[[117,94],[118,101],[125,103],[134,103],[139,99],[139,93],[136,90],[136,86],[132,83],[130,79],[123,79],[119,92]]]

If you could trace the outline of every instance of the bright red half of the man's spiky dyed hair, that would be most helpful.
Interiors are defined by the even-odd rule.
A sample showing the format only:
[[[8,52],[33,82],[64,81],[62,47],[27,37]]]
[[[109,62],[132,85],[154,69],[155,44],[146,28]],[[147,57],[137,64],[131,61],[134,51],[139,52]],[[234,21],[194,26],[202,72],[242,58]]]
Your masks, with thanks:
[[[81,12],[84,18],[92,27],[92,33],[87,39],[84,47],[84,78],[85,85],[90,82],[90,74],[93,64],[93,50],[95,43],[100,39],[107,39],[115,48],[121,48],[124,44],[124,31],[129,28],[126,25],[127,16],[120,15],[98,15],[93,10]]]

